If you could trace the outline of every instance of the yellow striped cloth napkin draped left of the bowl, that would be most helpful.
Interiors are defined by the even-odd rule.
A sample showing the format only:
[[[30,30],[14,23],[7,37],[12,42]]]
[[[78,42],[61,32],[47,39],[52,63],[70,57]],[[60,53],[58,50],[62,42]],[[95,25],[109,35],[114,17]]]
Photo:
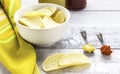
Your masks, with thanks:
[[[11,74],[40,74],[32,45],[18,34],[13,16],[20,0],[0,0],[0,61]],[[7,16],[3,10],[5,9]]]

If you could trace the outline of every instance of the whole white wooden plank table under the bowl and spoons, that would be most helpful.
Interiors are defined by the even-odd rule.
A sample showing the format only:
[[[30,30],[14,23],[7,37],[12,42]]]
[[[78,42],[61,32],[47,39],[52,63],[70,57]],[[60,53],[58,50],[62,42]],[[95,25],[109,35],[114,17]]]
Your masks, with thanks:
[[[23,0],[22,5],[36,3],[37,0]],[[120,74],[120,0],[88,0],[84,10],[70,12],[70,29],[61,41],[46,48],[35,46],[41,74],[47,74],[42,71],[41,63],[51,54],[84,53],[81,50],[84,44],[80,35],[82,28],[87,31],[89,43],[97,48],[93,54],[84,53],[91,60],[91,66],[82,69],[66,68],[48,74]],[[101,45],[95,35],[96,32],[103,33],[105,43],[113,48],[111,56],[101,55],[99,51]],[[0,72],[0,74],[9,74],[2,65]]]

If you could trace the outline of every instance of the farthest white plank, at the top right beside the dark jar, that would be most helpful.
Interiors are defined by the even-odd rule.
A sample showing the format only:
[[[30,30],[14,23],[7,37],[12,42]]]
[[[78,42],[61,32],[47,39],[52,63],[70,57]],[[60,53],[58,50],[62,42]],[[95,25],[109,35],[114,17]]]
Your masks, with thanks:
[[[87,0],[85,10],[120,10],[120,0]]]

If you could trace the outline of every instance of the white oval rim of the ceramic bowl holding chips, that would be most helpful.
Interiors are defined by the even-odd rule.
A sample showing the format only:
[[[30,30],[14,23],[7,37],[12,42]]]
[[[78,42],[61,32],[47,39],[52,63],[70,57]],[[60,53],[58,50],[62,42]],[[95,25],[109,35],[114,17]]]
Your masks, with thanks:
[[[21,12],[22,9],[25,9],[25,8],[28,8],[28,7],[33,7],[33,6],[40,6],[40,5],[42,5],[42,6],[44,6],[44,5],[46,5],[46,6],[47,6],[47,5],[48,5],[48,6],[56,6],[56,7],[59,7],[59,8],[61,8],[61,9],[64,9],[64,11],[67,13],[68,18],[66,19],[66,21],[65,21],[64,23],[62,23],[62,24],[59,25],[59,26],[51,27],[51,28],[44,28],[44,29],[34,29],[34,28],[30,28],[30,27],[27,27],[27,26],[24,26],[24,25],[20,24],[19,21],[17,21],[17,19],[16,19],[16,18],[17,18],[17,15]],[[38,3],[38,4],[26,5],[26,6],[24,6],[24,7],[21,7],[20,9],[18,9],[18,10],[15,12],[15,14],[14,14],[14,20],[15,20],[16,25],[19,25],[19,26],[21,26],[21,27],[23,27],[23,28],[25,28],[25,29],[31,29],[31,30],[50,30],[50,29],[55,29],[55,28],[58,28],[58,27],[67,25],[66,23],[70,20],[70,17],[71,17],[70,11],[69,11],[67,8],[65,8],[65,7],[63,7],[63,6],[61,6],[61,5],[58,5],[58,4],[53,4],[53,3]]]

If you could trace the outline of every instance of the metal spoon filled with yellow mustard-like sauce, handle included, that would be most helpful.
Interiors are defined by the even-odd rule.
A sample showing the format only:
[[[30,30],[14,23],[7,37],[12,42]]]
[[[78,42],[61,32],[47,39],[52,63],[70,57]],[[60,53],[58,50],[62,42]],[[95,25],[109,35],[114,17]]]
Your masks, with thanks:
[[[81,35],[85,41],[85,45],[82,46],[82,49],[85,52],[92,53],[95,50],[95,47],[88,43],[86,31],[81,31]]]

